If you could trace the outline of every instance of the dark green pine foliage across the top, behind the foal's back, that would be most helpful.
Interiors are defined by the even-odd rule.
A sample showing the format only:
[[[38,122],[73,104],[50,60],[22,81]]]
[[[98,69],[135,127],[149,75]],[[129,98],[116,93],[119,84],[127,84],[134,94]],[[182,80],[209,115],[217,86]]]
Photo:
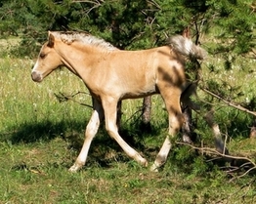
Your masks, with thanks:
[[[19,35],[26,53],[46,39],[47,30],[85,30],[121,49],[162,45],[167,36],[212,32],[223,43],[215,52],[246,53],[255,45],[250,1],[52,1],[15,0],[0,5],[2,36]],[[214,18],[212,18],[214,17]],[[210,28],[211,27],[211,28]],[[28,46],[27,46],[28,45]],[[23,52],[23,53],[22,53]]]

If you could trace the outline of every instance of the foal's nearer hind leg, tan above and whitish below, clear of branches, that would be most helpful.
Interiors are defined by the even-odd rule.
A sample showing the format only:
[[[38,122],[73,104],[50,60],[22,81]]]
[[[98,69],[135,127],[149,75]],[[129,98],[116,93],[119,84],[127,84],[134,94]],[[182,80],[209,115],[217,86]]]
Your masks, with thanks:
[[[184,122],[184,117],[180,105],[179,91],[177,90],[176,93],[175,91],[165,94],[161,93],[161,95],[168,111],[169,131],[168,136],[166,137],[160,148],[160,151],[158,152],[152,166],[150,167],[150,171],[153,172],[157,172],[158,168],[166,162],[167,156],[172,147],[170,138],[173,138],[177,135]]]

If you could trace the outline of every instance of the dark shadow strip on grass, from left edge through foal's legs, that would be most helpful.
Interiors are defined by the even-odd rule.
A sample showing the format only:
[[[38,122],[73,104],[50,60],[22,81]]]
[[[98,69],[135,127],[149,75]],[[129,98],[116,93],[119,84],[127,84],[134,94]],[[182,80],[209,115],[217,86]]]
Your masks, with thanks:
[[[63,140],[62,143],[70,150],[70,155],[75,159],[84,143],[85,124],[85,121],[24,123],[18,127],[11,127],[9,133],[1,134],[0,142],[10,142],[18,145],[20,143],[32,144],[40,142],[48,145],[47,143],[50,143],[52,140],[61,138]],[[154,127],[146,131],[141,129],[141,126],[125,124],[120,131],[120,135],[124,141],[143,153],[146,157],[152,155],[155,157],[156,151],[160,147],[153,146],[149,148],[145,143],[146,137],[158,136],[158,130]],[[107,135],[105,125],[100,126],[95,139],[91,143],[88,156],[86,166],[99,166],[101,168],[108,168],[112,165],[112,162],[127,162],[131,160],[118,143]],[[69,165],[68,163],[67,166]],[[24,168],[22,164],[21,168]]]

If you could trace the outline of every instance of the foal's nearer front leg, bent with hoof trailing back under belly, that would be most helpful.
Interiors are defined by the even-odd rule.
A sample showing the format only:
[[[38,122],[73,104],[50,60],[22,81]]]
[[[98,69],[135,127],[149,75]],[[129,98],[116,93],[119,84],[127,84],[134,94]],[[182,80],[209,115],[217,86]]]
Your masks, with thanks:
[[[116,125],[116,104],[117,102],[112,98],[107,98],[102,100],[105,120],[106,120],[106,130],[107,134],[118,143],[124,152],[131,158],[133,158],[138,163],[143,166],[148,166],[148,161],[143,158],[134,148],[132,148],[128,143],[126,143],[121,136],[118,134],[118,128]]]

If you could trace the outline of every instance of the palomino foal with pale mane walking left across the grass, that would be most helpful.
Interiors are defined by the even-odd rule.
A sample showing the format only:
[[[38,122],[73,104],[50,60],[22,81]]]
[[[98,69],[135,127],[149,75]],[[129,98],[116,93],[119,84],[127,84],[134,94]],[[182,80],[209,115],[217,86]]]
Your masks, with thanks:
[[[120,51],[102,39],[83,32],[51,32],[42,46],[31,77],[41,82],[64,65],[80,77],[93,98],[93,113],[86,127],[82,149],[69,171],[86,162],[90,144],[105,118],[108,135],[125,153],[144,166],[148,161],[120,137],[116,126],[117,103],[125,99],[160,94],[169,119],[168,135],[151,171],[165,163],[174,137],[183,125],[180,98],[186,88],[186,57],[202,60],[206,52],[183,36],[174,36],[166,46],[141,51]]]

